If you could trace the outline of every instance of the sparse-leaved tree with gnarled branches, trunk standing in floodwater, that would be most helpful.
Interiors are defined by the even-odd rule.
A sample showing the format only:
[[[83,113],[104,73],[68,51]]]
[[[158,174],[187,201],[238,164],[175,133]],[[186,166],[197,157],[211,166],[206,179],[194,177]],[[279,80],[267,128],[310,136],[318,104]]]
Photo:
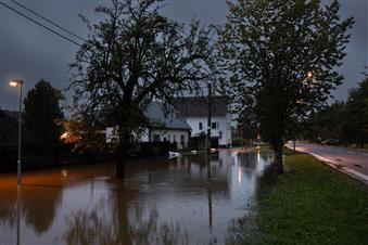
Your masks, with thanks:
[[[124,178],[127,145],[145,126],[152,100],[170,102],[183,90],[196,91],[212,76],[211,31],[182,25],[158,13],[158,0],[112,1],[98,7],[106,17],[89,26],[89,39],[72,64],[76,102],[92,116],[101,112],[118,126],[116,177]],[[98,113],[99,112],[99,113]]]

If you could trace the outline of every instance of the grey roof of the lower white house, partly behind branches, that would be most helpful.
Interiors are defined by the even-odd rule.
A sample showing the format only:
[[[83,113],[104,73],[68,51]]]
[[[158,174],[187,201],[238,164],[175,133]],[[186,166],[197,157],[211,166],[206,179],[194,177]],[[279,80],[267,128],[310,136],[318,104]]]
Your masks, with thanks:
[[[163,106],[157,102],[152,102],[144,114],[153,127],[191,130],[187,121],[176,118],[173,113],[165,113]]]

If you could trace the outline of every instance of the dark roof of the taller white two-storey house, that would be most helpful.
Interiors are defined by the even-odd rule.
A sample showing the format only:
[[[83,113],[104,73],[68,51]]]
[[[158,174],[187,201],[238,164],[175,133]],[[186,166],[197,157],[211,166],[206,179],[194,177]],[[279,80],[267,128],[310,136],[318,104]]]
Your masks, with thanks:
[[[175,107],[179,117],[207,117],[207,96],[187,96],[176,99]],[[228,99],[226,96],[212,96],[212,116],[226,116],[228,114]]]

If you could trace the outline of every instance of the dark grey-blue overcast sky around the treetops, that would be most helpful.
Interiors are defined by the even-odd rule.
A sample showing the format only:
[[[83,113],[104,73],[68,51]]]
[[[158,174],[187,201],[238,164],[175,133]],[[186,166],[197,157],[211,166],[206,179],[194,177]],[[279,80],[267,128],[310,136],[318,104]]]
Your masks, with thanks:
[[[20,10],[10,0],[3,2]],[[86,37],[87,28],[78,14],[83,13],[94,23],[99,18],[93,13],[94,7],[110,1],[18,0],[18,2]],[[348,0],[341,3],[341,16],[354,16],[356,21],[346,49],[347,56],[340,69],[345,79],[333,92],[337,99],[345,100],[348,89],[356,87],[364,78],[361,72],[364,66],[368,65],[368,0]],[[225,0],[168,0],[162,11],[168,17],[181,23],[189,23],[192,16],[195,16],[204,24],[224,24],[228,9]],[[40,78],[64,89],[71,77],[67,65],[73,62],[77,48],[0,5],[0,107],[17,108],[17,91],[8,86],[11,78],[24,79],[25,91],[34,87]],[[69,98],[71,94],[67,95]]]

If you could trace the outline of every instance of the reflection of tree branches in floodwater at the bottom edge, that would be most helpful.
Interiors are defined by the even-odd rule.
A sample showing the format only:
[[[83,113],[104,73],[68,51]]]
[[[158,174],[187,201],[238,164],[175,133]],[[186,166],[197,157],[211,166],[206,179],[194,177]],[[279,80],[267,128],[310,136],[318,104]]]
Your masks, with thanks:
[[[188,244],[188,232],[181,231],[178,223],[160,224],[155,208],[150,210],[147,219],[142,215],[128,216],[126,209],[115,209],[117,217],[106,217],[100,208],[103,207],[90,212],[79,210],[66,218],[68,229],[56,242],[63,240],[67,245]],[[140,205],[134,208],[131,214],[142,212]]]

